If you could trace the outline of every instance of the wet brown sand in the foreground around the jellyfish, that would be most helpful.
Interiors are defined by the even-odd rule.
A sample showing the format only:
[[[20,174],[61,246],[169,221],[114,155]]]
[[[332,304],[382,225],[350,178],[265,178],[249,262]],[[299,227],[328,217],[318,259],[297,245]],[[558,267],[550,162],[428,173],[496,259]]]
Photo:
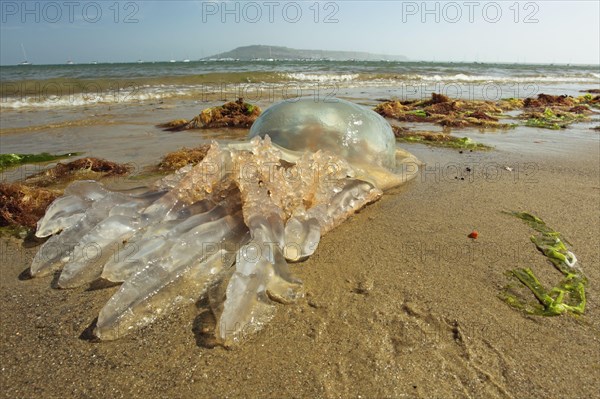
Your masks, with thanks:
[[[542,138],[521,132],[522,148],[490,152],[403,145],[427,163],[417,179],[323,237],[292,266],[305,298],[231,350],[212,347],[204,303],[90,342],[116,288],[23,280],[36,248],[3,238],[0,396],[598,397],[598,134],[529,131]],[[584,316],[527,316],[498,298],[515,267],[547,287],[562,277],[503,210],[532,212],[573,244],[589,279]]]

